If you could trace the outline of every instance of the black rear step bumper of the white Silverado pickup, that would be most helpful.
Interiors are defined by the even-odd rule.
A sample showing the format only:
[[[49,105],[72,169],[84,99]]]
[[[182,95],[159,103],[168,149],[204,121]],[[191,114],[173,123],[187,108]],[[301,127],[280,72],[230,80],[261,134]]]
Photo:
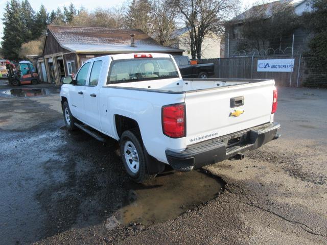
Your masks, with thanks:
[[[277,134],[280,127],[277,122],[272,122],[191,145],[181,152],[166,150],[166,157],[175,170],[190,171],[257,149],[270,140],[277,139],[280,136]],[[226,148],[227,142],[233,140],[237,143],[231,143]]]

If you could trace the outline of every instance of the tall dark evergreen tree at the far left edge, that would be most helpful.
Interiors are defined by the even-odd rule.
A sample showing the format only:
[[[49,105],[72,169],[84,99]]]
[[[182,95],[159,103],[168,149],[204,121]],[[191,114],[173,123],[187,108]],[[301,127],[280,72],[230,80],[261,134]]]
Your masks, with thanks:
[[[22,35],[23,24],[21,22],[21,6],[17,0],[7,3],[4,13],[4,36],[2,54],[8,60],[18,61],[21,44],[24,42]]]

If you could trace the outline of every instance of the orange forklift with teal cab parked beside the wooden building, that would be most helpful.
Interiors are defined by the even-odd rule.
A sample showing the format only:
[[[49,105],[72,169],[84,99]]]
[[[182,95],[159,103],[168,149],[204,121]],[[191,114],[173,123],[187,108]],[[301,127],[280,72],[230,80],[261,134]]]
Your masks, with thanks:
[[[33,71],[30,61],[20,61],[17,67],[12,63],[8,63],[6,68],[8,71],[8,81],[12,86],[39,83],[39,76]]]

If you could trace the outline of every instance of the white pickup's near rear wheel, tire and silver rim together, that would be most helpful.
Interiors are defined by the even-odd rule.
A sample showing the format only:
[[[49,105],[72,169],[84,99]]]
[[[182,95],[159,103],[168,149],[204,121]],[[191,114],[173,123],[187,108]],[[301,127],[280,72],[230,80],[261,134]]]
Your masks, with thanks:
[[[121,156],[129,177],[136,183],[142,183],[155,177],[147,172],[147,163],[143,143],[137,134],[125,131],[120,141]]]

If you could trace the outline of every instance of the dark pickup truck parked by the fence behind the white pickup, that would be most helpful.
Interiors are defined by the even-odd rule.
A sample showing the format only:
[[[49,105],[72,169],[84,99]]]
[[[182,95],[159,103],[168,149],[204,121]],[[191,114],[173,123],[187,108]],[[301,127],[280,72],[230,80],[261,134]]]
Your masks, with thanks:
[[[174,56],[183,78],[208,78],[214,75],[214,63],[191,65],[188,56]]]

